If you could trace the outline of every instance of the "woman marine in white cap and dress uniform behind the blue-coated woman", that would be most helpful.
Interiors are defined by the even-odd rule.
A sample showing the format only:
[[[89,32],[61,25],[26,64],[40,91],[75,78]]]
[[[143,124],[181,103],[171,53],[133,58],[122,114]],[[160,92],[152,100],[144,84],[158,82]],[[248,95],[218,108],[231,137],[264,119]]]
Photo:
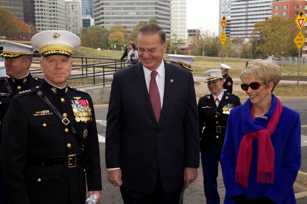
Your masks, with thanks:
[[[231,109],[240,106],[241,102],[238,96],[223,91],[225,82],[220,69],[211,69],[204,74],[211,92],[201,97],[197,106],[204,193],[208,204],[220,204],[217,176],[227,120]]]

